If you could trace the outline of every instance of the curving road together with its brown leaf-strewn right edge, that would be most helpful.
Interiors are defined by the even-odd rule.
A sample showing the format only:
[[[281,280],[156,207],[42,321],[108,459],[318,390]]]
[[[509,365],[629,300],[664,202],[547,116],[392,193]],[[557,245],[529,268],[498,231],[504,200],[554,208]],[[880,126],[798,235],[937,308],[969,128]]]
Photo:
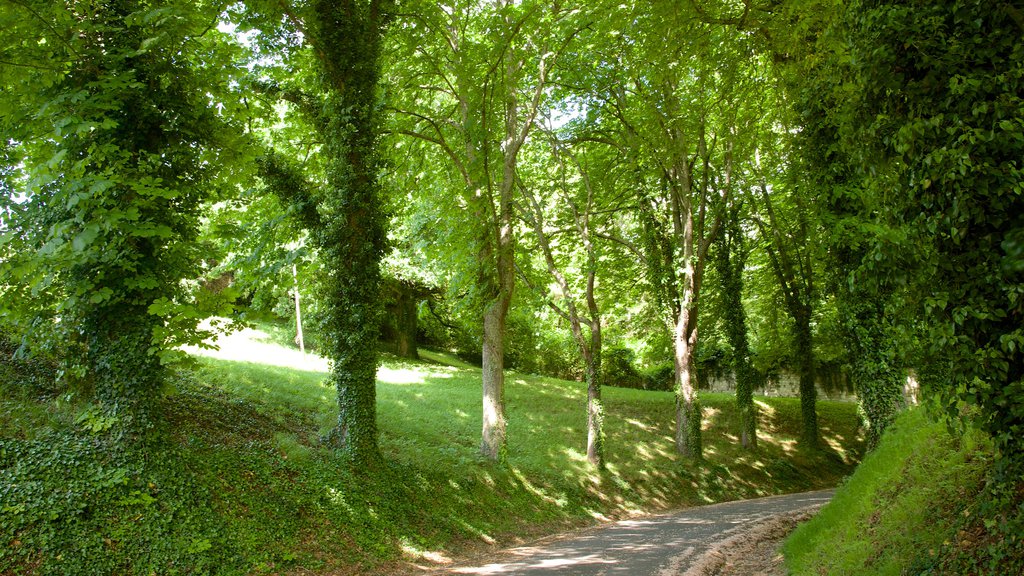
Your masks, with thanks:
[[[626,520],[532,546],[513,548],[477,566],[444,574],[559,576],[708,576],[778,570],[775,546],[833,490],[739,500]],[[756,566],[744,567],[748,557]],[[767,572],[771,573],[771,572]],[[784,573],[784,572],[782,572]]]

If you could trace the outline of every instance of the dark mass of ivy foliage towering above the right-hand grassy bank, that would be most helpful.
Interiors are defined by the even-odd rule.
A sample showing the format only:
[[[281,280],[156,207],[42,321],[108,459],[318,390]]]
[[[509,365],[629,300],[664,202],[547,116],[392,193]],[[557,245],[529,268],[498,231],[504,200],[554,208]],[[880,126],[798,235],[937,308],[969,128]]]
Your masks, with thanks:
[[[854,2],[804,102],[850,285],[914,306],[929,362],[952,376],[929,392],[952,418],[980,408],[1008,481],[1024,429],[1021,31],[1010,3]]]

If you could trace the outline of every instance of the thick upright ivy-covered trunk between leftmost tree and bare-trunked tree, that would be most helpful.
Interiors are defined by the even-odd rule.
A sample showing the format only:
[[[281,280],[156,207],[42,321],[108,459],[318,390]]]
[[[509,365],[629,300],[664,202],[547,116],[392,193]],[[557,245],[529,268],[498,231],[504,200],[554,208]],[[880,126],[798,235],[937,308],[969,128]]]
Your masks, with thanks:
[[[387,216],[377,181],[377,84],[390,7],[386,0],[318,0],[308,22],[325,92],[327,181],[312,237],[326,271],[325,352],[338,392],[338,422],[328,441],[360,464],[380,457],[377,342]]]

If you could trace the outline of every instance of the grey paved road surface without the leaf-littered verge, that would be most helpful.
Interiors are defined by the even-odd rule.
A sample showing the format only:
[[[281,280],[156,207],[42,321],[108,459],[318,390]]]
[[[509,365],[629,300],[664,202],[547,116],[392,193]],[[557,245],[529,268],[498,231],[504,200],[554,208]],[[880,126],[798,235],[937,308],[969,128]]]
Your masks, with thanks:
[[[444,574],[503,576],[676,576],[713,546],[752,525],[821,505],[822,490],[698,506],[625,520],[536,546],[513,548],[478,566],[449,567]]]

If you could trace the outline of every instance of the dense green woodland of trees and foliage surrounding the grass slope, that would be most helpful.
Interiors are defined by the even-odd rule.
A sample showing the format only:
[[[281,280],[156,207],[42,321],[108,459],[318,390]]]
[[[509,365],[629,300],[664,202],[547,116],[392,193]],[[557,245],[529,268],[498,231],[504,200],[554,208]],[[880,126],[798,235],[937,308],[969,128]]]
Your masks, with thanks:
[[[75,571],[60,515],[27,511],[39,470],[202,467],[174,430],[210,369],[182,346],[253,322],[330,361],[331,421],[295,417],[346,478],[395,465],[378,369],[418,346],[480,367],[496,470],[511,371],[580,381],[599,477],[632,449],[603,386],[671,392],[699,467],[712,378],[758,455],[754,393],[796,374],[815,454],[823,383],[873,447],[912,374],[991,450],[986,536],[935,566],[1024,565],[1019,1],[0,0],[0,389],[76,414],[0,437],[0,572]],[[153,570],[217,571],[178,562]]]

